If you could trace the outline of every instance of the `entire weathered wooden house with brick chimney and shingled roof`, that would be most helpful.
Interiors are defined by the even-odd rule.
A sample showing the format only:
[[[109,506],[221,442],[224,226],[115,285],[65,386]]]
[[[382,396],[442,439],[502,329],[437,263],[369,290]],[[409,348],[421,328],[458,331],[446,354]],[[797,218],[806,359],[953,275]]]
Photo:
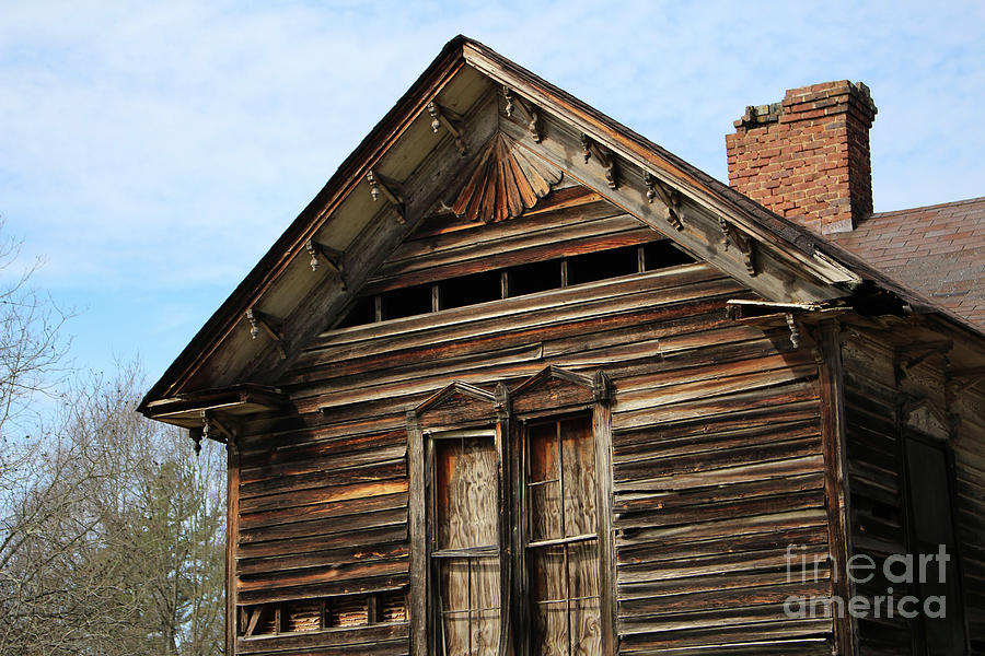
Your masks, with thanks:
[[[985,199],[872,214],[874,116],[726,186],[450,42],[140,406],[228,447],[227,653],[985,654]]]

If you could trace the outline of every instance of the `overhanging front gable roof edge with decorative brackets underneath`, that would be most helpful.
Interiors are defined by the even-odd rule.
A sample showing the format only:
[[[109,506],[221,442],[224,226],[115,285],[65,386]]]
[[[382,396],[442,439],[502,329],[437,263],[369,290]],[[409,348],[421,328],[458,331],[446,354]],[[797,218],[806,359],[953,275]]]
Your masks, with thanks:
[[[877,295],[880,307],[908,305],[962,325],[847,250],[459,36],[343,162],[139,410],[158,415],[189,395],[274,384],[401,239],[468,184],[497,134],[522,142],[524,156],[564,169],[769,301],[865,303]],[[328,266],[310,267],[312,258]]]

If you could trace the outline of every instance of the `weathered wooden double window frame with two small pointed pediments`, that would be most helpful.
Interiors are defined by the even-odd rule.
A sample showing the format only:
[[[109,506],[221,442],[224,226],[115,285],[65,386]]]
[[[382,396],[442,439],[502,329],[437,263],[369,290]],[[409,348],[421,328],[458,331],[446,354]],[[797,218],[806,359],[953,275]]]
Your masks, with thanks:
[[[429,514],[434,436],[463,430],[491,430],[499,458],[499,653],[531,652],[530,586],[526,566],[526,429],[533,422],[590,417],[595,458],[595,507],[599,549],[602,653],[617,649],[615,546],[612,527],[612,384],[604,372],[593,376],[547,366],[512,390],[500,383],[494,393],[454,382],[407,412],[410,654],[437,653],[438,594],[431,565]],[[439,437],[440,438],[440,437]],[[509,464],[509,465],[505,465]]]

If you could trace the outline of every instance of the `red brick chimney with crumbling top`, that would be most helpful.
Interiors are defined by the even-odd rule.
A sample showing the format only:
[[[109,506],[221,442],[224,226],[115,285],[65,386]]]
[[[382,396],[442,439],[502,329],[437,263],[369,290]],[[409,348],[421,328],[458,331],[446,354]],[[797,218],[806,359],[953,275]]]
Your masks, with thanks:
[[[872,212],[874,118],[869,87],[847,80],[746,107],[726,137],[729,185],[814,232],[850,232]]]

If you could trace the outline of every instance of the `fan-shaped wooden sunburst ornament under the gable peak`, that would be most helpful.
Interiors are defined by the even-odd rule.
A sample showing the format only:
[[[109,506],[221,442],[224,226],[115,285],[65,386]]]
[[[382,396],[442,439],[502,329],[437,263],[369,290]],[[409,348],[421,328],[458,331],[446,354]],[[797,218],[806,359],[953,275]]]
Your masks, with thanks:
[[[563,177],[560,168],[499,133],[486,147],[452,211],[484,223],[512,219],[533,208]]]

